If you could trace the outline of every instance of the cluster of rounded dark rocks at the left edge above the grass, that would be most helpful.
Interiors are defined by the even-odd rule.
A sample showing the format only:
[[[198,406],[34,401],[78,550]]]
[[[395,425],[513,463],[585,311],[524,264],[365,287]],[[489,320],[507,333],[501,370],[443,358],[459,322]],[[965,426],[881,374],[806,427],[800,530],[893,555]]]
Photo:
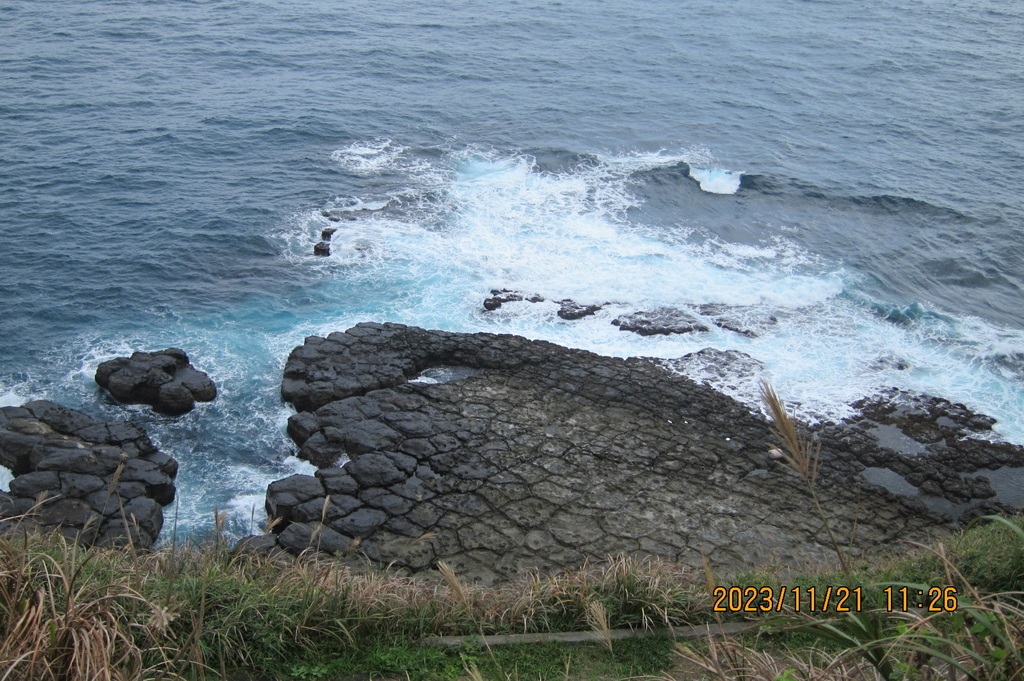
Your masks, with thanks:
[[[58,529],[85,544],[148,548],[174,500],[177,462],[145,431],[54,402],[0,409],[0,531]]]

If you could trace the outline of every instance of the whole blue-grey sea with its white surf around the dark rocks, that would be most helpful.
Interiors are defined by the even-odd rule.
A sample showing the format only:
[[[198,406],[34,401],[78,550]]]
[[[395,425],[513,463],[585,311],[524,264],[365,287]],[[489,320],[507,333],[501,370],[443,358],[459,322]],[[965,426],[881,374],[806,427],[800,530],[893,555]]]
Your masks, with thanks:
[[[370,320],[738,349],[809,419],[897,386],[1024,443],[1022,187],[1017,2],[0,0],[0,403],[144,425],[193,535],[259,524],[288,352]],[[609,324],[698,303],[778,324]],[[92,380],[171,345],[215,402]]]

